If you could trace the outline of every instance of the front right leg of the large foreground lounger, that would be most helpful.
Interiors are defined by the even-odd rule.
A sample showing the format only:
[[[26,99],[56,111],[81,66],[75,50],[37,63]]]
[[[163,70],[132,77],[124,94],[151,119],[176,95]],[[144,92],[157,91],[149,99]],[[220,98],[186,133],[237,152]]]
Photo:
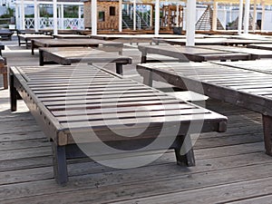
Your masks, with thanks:
[[[185,136],[184,136],[185,137]],[[190,137],[187,136],[185,139],[183,137],[178,137],[176,139],[177,145],[174,148],[177,164],[180,166],[195,166],[195,156],[191,145]]]

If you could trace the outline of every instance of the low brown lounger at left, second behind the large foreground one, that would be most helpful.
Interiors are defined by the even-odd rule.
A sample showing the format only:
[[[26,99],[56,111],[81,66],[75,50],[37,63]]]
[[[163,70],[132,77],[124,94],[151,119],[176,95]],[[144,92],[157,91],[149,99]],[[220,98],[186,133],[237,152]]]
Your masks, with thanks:
[[[98,47],[105,51],[118,51],[122,53],[123,44],[119,42],[109,42],[96,39],[34,39],[31,41],[31,53],[39,47]]]

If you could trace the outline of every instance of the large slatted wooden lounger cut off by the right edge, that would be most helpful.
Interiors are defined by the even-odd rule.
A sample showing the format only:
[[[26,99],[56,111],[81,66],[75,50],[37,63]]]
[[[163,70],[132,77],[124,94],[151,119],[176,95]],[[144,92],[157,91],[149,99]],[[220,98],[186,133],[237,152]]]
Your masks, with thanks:
[[[256,61],[257,63],[258,61]],[[144,63],[144,83],[168,82],[262,114],[265,149],[272,156],[272,75],[215,63]]]

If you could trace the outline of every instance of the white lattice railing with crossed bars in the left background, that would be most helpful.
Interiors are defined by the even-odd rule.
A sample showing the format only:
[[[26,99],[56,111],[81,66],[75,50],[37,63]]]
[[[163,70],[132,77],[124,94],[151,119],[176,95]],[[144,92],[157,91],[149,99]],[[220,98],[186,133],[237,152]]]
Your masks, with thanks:
[[[24,22],[25,22],[25,29],[34,28],[34,18],[25,18]],[[39,29],[43,29],[43,28],[53,29],[53,18],[40,17],[38,18],[38,22],[39,22],[39,27],[38,27]],[[84,29],[84,19],[83,18],[58,18],[58,29]]]

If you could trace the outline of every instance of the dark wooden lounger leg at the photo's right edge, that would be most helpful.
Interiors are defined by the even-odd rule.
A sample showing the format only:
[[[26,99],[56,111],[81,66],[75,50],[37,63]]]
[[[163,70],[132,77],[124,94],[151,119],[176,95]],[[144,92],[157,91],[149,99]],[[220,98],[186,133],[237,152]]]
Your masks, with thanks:
[[[263,115],[263,128],[266,153],[272,156],[272,117]]]

